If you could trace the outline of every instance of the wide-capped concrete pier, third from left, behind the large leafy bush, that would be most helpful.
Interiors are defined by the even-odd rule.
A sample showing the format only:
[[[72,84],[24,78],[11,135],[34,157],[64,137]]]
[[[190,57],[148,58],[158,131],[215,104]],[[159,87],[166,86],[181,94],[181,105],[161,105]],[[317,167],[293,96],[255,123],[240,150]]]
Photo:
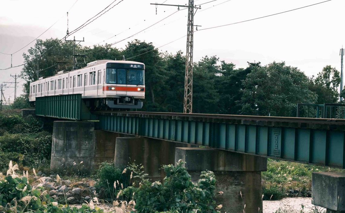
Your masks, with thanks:
[[[201,171],[213,171],[216,177],[217,205],[221,212],[262,212],[261,172],[267,170],[267,159],[208,148],[176,148],[175,162],[186,162],[185,166],[193,182],[199,180]]]

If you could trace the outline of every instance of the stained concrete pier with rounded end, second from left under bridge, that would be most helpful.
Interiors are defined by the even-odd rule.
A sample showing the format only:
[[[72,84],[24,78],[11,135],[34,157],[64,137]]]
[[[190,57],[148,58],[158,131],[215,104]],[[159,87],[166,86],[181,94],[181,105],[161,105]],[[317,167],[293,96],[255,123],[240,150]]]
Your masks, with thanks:
[[[162,165],[175,163],[175,148],[190,144],[174,143],[144,137],[116,138],[114,164],[125,168],[130,162],[142,164],[151,181],[162,181],[165,173]]]

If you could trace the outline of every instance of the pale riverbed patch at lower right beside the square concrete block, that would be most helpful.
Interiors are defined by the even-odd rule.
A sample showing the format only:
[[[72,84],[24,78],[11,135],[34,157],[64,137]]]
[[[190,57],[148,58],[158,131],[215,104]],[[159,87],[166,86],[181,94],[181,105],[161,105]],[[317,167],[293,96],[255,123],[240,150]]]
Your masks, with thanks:
[[[299,213],[302,210],[303,212],[312,212],[315,206],[312,204],[312,199],[310,197],[286,197],[278,201],[263,201],[263,213],[275,213],[279,208],[282,210],[288,210],[289,213]],[[325,211],[321,207],[317,208],[321,212]],[[284,212],[284,211],[282,211]]]

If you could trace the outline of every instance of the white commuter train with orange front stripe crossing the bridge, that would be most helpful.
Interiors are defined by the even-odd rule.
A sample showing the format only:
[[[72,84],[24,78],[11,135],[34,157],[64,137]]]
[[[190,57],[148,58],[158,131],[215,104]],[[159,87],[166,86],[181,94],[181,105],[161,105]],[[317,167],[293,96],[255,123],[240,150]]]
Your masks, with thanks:
[[[29,101],[37,97],[81,94],[89,107],[141,109],[145,99],[145,64],[135,61],[97,60],[85,68],[30,83]]]

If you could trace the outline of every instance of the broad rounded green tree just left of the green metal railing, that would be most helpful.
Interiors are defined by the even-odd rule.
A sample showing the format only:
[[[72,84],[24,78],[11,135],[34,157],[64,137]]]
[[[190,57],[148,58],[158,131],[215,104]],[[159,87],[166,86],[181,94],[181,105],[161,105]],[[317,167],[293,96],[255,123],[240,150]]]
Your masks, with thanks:
[[[297,103],[314,103],[317,95],[308,89],[308,78],[285,62],[253,67],[243,81],[241,114],[295,116]]]

